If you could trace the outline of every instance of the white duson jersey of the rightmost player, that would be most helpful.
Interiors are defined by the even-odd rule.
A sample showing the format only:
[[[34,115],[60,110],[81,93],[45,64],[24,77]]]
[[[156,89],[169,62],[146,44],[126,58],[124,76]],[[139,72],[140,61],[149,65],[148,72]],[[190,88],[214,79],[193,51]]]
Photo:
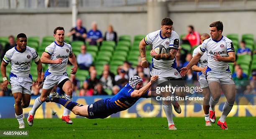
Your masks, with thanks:
[[[222,36],[219,41],[213,40],[212,38],[206,39],[198,52],[203,54],[207,51],[208,56],[208,67],[216,72],[229,71],[229,65],[227,62],[215,61],[214,55],[219,54],[222,57],[228,57],[228,52],[235,52],[233,42],[227,37]]]

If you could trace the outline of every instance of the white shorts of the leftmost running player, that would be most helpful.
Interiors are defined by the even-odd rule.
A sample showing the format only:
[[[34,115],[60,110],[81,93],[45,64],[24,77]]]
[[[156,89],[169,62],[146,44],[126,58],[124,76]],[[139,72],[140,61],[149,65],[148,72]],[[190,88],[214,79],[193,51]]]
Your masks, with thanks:
[[[30,77],[10,77],[10,84],[12,93],[31,94],[32,79]]]

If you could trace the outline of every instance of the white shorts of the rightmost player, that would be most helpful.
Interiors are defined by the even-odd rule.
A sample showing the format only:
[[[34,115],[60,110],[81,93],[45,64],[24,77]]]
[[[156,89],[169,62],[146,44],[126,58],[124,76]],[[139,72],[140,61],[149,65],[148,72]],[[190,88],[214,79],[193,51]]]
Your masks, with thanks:
[[[208,81],[208,84],[210,84],[211,82],[218,82],[220,84],[235,84],[230,71],[215,72],[210,70],[210,68],[207,68],[206,79]]]

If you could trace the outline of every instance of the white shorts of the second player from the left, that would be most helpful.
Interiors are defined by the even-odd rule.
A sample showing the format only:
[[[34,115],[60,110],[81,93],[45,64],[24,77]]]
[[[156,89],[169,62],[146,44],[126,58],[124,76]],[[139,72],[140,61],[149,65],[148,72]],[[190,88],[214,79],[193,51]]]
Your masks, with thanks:
[[[49,74],[44,77],[43,89],[51,89],[56,84],[59,84],[61,81],[63,81],[64,79],[69,79],[67,73],[64,73],[63,75]]]

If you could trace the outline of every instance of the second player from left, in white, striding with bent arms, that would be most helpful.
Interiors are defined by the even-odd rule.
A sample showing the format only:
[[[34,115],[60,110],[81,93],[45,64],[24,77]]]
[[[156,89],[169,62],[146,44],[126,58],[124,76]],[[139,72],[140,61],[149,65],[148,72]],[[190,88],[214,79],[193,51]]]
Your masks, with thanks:
[[[41,96],[36,98],[33,108],[28,114],[28,125],[33,125],[33,117],[36,109],[41,106],[47,96],[49,96],[52,88],[57,84],[65,92],[65,97],[72,100],[72,83],[67,75],[67,62],[68,60],[73,65],[71,74],[77,72],[77,61],[72,52],[71,45],[64,42],[64,28],[56,27],[54,29],[55,41],[45,48],[42,54],[41,61],[44,64],[49,64],[48,70],[44,73],[44,84]],[[67,124],[73,122],[69,118],[69,110],[64,108],[62,120]]]

